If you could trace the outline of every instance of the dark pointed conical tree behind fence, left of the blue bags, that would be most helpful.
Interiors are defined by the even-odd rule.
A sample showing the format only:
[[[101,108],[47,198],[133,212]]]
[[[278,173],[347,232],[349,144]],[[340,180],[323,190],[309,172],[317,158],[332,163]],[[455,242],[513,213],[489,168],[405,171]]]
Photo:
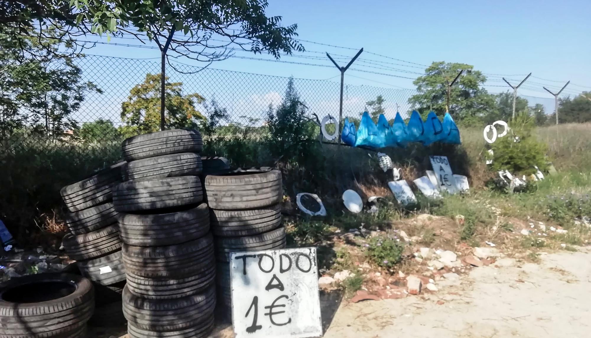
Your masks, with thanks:
[[[277,110],[269,106],[267,113],[269,150],[284,162],[311,160],[316,145],[316,125],[306,117],[293,77],[287,83],[285,96]]]

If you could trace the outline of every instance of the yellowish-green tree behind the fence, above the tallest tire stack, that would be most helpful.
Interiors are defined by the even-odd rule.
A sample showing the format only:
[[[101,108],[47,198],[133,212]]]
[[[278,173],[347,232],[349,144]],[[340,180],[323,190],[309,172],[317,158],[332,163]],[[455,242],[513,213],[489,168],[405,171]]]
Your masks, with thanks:
[[[122,103],[121,121],[132,131],[143,134],[160,130],[160,74],[146,74],[143,83],[135,85],[128,100]],[[183,95],[182,82],[168,82],[165,77],[165,123],[170,128],[197,128],[204,116],[195,108],[205,100],[199,94]],[[129,135],[129,128],[123,131]]]

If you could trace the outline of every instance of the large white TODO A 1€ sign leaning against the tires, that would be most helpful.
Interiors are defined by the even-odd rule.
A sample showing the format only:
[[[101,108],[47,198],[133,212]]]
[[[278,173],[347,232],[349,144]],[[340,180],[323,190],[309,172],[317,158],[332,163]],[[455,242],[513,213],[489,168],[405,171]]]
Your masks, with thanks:
[[[236,338],[322,336],[316,248],[230,255]]]

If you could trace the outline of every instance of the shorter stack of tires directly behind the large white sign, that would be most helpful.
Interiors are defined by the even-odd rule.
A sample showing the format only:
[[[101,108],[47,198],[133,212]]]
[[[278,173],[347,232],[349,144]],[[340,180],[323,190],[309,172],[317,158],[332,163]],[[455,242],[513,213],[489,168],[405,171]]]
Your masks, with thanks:
[[[281,226],[283,189],[278,170],[246,170],[205,177],[215,236],[218,313],[230,318],[231,252],[285,248]]]

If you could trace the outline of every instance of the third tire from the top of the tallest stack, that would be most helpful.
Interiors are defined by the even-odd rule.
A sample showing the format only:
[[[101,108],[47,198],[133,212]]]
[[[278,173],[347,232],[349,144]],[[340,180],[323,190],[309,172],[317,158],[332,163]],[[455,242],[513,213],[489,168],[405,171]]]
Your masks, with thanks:
[[[196,176],[126,181],[113,190],[113,205],[118,212],[164,209],[202,201],[201,181]]]

